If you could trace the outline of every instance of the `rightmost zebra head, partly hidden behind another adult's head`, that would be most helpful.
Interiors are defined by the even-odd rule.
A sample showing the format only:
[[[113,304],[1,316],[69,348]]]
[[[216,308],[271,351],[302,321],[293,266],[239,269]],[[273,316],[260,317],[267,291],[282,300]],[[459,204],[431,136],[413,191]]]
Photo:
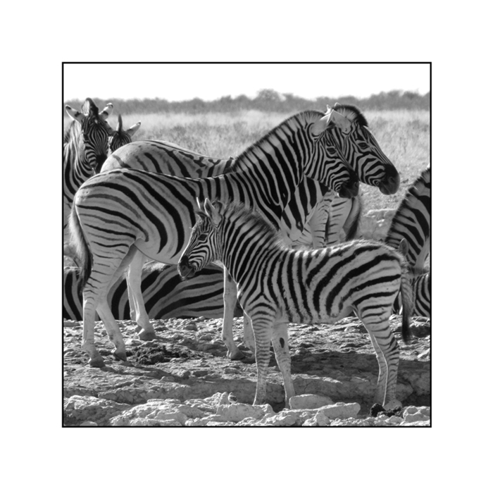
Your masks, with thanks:
[[[356,106],[336,103],[333,109],[327,106],[327,113],[331,113],[332,127],[328,139],[342,149],[359,180],[378,187],[382,194],[395,194],[399,190],[399,172],[368,129],[361,111]]]

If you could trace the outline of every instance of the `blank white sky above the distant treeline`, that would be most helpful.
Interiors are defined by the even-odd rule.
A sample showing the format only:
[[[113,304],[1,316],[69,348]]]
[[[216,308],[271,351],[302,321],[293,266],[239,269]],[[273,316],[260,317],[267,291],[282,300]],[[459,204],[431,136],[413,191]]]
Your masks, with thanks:
[[[63,99],[214,100],[274,89],[306,99],[390,90],[430,91],[427,63],[132,64],[65,63]]]

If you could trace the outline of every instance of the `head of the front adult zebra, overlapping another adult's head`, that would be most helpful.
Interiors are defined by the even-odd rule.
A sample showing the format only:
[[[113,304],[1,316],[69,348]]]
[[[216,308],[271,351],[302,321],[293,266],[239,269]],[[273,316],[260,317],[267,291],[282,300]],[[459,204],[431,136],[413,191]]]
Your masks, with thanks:
[[[313,163],[306,176],[318,180],[330,190],[338,192],[339,197],[350,199],[358,195],[359,179],[337,144],[329,140],[330,128],[339,114],[332,109],[311,125],[310,136],[313,139]],[[339,118],[340,120],[340,118]],[[344,121],[342,121],[344,123]],[[349,128],[349,124],[346,124]]]

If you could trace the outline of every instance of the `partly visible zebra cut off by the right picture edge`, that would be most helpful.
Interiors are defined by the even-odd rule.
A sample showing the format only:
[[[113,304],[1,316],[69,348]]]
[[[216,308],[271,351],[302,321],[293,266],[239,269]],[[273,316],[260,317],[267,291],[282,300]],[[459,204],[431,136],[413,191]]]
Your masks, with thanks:
[[[409,187],[392,218],[385,242],[396,248],[406,239],[406,260],[414,292],[413,315],[431,317],[431,273],[426,266],[431,240],[431,169],[425,168]],[[394,305],[401,307],[398,297]]]

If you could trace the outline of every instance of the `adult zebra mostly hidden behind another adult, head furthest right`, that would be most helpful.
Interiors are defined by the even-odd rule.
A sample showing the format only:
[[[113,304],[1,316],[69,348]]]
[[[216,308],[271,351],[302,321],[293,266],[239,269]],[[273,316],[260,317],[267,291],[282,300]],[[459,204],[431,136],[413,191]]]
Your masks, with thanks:
[[[385,194],[397,192],[399,173],[383,154],[375,137],[368,129],[366,118],[356,106],[341,104],[336,104],[336,106],[335,114],[337,113],[339,117],[339,124],[332,131],[327,132],[325,135],[327,141],[337,146],[341,144],[341,140],[346,138],[351,140],[351,143],[344,142],[346,159],[358,173],[361,182],[379,187],[380,191]],[[327,106],[328,111],[332,111],[329,106]],[[344,113],[344,116],[341,113]],[[233,161],[231,157],[227,160],[213,159],[170,142],[138,141],[127,144],[108,157],[101,171],[137,168],[169,175],[205,178],[229,173]],[[327,190],[327,187],[317,180],[304,177],[282,213],[280,230],[287,242],[292,242],[294,245],[308,244],[313,247],[323,247],[327,244],[325,235],[328,211],[325,211],[324,206],[330,206],[332,199],[334,199],[334,194]],[[354,206],[356,209],[357,203]],[[343,225],[342,221],[340,225]],[[338,233],[335,226],[336,224],[332,225],[331,229],[334,233]],[[144,256],[137,252],[130,265],[128,281],[133,291],[131,297],[135,299],[137,324],[144,329],[149,329],[149,316],[146,314],[142,295],[139,292],[139,277],[144,260]],[[231,345],[232,318],[228,316],[227,311],[230,311],[230,308],[225,309],[223,333],[227,335],[227,345]],[[229,357],[235,358],[239,355],[241,356],[237,349],[228,348]]]

